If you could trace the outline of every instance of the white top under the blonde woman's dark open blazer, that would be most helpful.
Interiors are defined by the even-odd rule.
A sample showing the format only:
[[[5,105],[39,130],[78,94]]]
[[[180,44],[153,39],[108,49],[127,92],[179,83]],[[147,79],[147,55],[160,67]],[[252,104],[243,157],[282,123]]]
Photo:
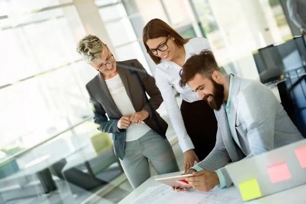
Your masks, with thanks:
[[[136,111],[126,93],[119,74],[109,80],[105,80],[105,82],[120,113],[122,115],[135,113]],[[125,142],[137,140],[150,130],[150,127],[145,123],[136,124],[132,122],[129,128],[126,129]]]

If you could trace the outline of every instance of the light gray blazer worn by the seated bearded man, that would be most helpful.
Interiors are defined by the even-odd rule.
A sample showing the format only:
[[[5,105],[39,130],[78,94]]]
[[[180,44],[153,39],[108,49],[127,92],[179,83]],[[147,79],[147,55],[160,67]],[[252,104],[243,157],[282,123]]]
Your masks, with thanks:
[[[224,166],[303,139],[273,92],[253,80],[234,76],[231,94],[231,126],[236,130],[241,149],[232,138],[225,108],[215,111],[217,140],[206,159],[198,163],[210,171],[220,169],[226,186],[232,181]]]

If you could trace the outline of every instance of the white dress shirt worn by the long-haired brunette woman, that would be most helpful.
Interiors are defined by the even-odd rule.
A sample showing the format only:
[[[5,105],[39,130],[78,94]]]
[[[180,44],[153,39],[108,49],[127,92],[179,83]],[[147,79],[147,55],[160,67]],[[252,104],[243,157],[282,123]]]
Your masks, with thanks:
[[[210,45],[206,38],[197,37],[192,38],[184,45],[186,57],[185,62],[193,55],[199,54],[203,49],[209,49]],[[187,102],[199,100],[196,92],[192,92],[188,85],[185,88],[180,87],[181,80],[180,71],[182,67],[172,61],[165,61],[161,59],[160,64],[157,65],[155,78],[156,84],[160,89],[163,99],[165,101],[166,109],[173,125],[174,131],[179,139],[179,144],[183,152],[194,149],[193,143],[187,134],[182,113],[177,105],[172,87],[180,93],[181,98]]]

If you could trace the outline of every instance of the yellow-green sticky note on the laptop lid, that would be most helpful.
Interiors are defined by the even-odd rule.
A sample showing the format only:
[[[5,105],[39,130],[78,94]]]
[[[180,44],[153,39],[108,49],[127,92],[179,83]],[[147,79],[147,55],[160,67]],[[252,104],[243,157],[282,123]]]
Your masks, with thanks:
[[[261,191],[256,179],[238,184],[242,200],[250,200],[261,197]]]

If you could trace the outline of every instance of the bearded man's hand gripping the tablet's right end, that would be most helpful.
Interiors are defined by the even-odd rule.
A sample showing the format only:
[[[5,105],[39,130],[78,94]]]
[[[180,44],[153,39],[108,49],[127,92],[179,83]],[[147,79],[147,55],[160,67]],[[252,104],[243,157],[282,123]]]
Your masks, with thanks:
[[[186,181],[198,191],[209,191],[220,184],[219,177],[216,172],[201,170],[193,172],[192,177],[187,177]]]

